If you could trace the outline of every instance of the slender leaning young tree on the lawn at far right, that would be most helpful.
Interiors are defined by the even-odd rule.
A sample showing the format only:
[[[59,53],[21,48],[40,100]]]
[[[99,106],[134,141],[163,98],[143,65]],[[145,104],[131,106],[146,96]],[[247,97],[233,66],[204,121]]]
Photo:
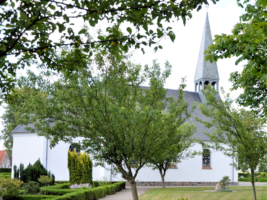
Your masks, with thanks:
[[[267,138],[261,119],[252,111],[237,110],[232,107],[233,100],[224,93],[225,100],[219,92],[207,85],[201,90],[206,97],[205,104],[199,105],[201,113],[210,120],[198,119],[206,128],[213,128],[212,133],[204,132],[214,143],[216,150],[223,151],[226,156],[233,157],[233,166],[243,172],[250,171],[254,200],[255,170],[266,165]],[[225,147],[227,145],[227,147]]]

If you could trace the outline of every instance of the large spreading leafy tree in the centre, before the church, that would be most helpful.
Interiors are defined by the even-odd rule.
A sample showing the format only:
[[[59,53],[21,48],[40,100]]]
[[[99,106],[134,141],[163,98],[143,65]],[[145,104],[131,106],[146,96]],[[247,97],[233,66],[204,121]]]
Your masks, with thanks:
[[[71,143],[75,137],[84,137],[82,148],[96,164],[113,164],[113,169],[131,183],[136,200],[136,175],[176,134],[177,125],[188,111],[182,96],[184,83],[176,101],[166,97],[163,86],[171,70],[168,62],[163,72],[155,60],[152,67],[146,65],[141,71],[141,66],[129,59],[129,55],[117,60],[114,54],[96,52],[94,60],[84,60],[86,68],[68,79],[62,74],[58,81],[47,84],[50,98],[29,98],[23,104],[28,114],[21,117],[21,122],[33,123],[39,135],[50,138],[52,147],[59,140]],[[40,83],[46,82],[42,76],[39,78]],[[149,81],[149,88],[140,87],[145,81]],[[173,132],[165,133],[171,128]],[[137,163],[134,172],[133,161]]]

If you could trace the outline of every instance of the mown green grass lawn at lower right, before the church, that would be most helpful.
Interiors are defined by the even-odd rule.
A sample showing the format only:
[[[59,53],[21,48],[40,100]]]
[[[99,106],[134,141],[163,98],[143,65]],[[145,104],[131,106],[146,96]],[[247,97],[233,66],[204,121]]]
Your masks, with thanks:
[[[267,186],[256,186],[256,195],[258,200],[267,200]],[[253,191],[251,186],[236,186],[229,189],[236,192],[203,192],[204,190],[213,190],[215,187],[188,187],[188,188],[152,188],[150,191],[142,194],[139,200],[253,200]]]

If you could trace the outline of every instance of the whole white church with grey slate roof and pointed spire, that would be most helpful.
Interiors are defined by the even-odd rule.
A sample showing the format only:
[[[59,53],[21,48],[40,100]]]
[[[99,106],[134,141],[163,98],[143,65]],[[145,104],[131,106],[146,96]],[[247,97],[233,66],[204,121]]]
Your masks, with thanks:
[[[196,67],[196,74],[194,79],[195,91],[185,92],[185,101],[188,103],[188,109],[191,109],[193,102],[204,103],[204,96],[200,92],[200,89],[206,84],[210,84],[213,87],[219,89],[219,74],[216,63],[210,63],[205,61],[204,50],[212,43],[212,35],[210,31],[208,13],[206,15],[206,21],[204,25],[204,31],[201,41],[201,47],[199,51],[198,63]],[[177,90],[168,89],[167,95],[177,96]],[[198,118],[205,118],[201,112],[196,109],[194,114]],[[188,120],[190,121],[190,119]],[[192,121],[195,120],[192,116]],[[33,124],[28,126],[33,127]],[[205,143],[210,143],[209,137],[203,135],[204,125],[196,123],[198,128],[193,137],[201,138]],[[210,132],[211,130],[206,129]],[[34,162],[40,158],[41,163],[45,168],[51,171],[55,175],[55,180],[69,180],[69,171],[67,167],[67,152],[69,150],[74,151],[75,146],[73,144],[64,143],[60,141],[58,145],[50,149],[49,140],[44,136],[38,136],[37,132],[27,132],[24,125],[18,126],[11,132],[13,137],[13,149],[12,149],[12,169],[14,165],[19,166],[23,163],[27,166],[29,163]],[[75,138],[73,143],[78,143],[83,138]],[[194,145],[192,151],[202,150],[200,144]],[[194,158],[184,160],[181,163],[174,164],[167,170],[165,175],[166,186],[174,185],[216,185],[223,176],[229,176],[231,182],[234,185],[238,185],[238,172],[230,164],[233,163],[233,158],[227,157],[220,151],[213,149],[206,149],[209,151],[208,155],[195,156]],[[112,166],[106,166],[111,168]],[[12,177],[13,177],[12,170]],[[117,176],[111,175],[109,170],[103,167],[93,167],[93,180],[101,180],[101,177],[107,177],[112,181],[123,180],[120,174]],[[136,177],[137,186],[155,186],[161,185],[161,177],[158,170],[153,171],[149,167],[143,167],[140,169]]]

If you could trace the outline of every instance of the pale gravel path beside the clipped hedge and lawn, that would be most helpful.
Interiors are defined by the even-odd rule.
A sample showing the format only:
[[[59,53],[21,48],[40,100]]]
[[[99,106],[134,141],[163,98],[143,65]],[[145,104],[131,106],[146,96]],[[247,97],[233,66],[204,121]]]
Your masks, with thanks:
[[[250,182],[238,182],[238,185],[239,186],[252,186]],[[267,183],[255,182],[255,186],[260,186],[260,185],[267,185]],[[178,187],[181,187],[181,186],[178,186]],[[192,186],[184,186],[184,187],[192,187]],[[136,188],[137,188],[138,196],[140,196],[141,194],[145,193],[151,188],[161,188],[161,186],[155,186],[155,187],[144,186],[144,187],[136,187]],[[99,200],[132,200],[132,199],[133,199],[133,196],[132,196],[131,187],[126,186],[125,190],[119,191],[113,195],[107,195],[103,199],[99,199]]]

